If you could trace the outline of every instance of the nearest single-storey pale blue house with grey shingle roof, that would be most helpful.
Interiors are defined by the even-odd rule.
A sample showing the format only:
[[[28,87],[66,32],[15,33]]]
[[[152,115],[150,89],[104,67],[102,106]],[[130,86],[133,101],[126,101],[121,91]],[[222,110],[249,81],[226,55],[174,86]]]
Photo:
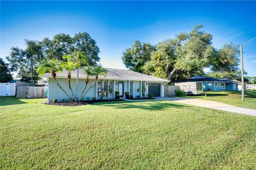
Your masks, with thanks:
[[[122,69],[107,69],[107,76],[99,76],[97,82],[94,87],[91,88],[89,92],[87,92],[84,96],[84,100],[87,100],[89,97],[90,100],[93,98],[100,99],[102,93],[108,92],[110,95],[110,99],[115,99],[115,91],[118,91],[120,94],[120,98],[125,98],[125,92],[130,92],[130,95],[133,95],[133,98],[136,98],[137,95],[142,97],[142,86],[146,87],[146,96],[147,94],[153,94],[153,96],[164,96],[164,83],[167,80],[162,78],[157,78],[154,76],[149,76],[145,74],[141,74],[139,72],[131,71],[131,70],[122,70]],[[71,96],[71,92],[68,88],[68,72],[62,71],[61,74],[57,73],[57,80],[62,88]],[[73,70],[71,72],[71,87],[73,88],[73,92],[76,93],[76,75],[77,71]],[[78,90],[77,95],[78,98],[81,95],[83,86],[85,85],[86,75],[82,69],[78,70],[79,82],[78,82]],[[67,101],[67,97],[60,88],[55,84],[55,81],[51,74],[44,74],[42,77],[47,78],[48,81],[48,101],[52,102],[52,99],[57,99],[58,101],[62,101],[63,99]],[[89,84],[86,87],[86,90],[94,82],[94,76],[90,77]],[[138,90],[139,89],[139,90]],[[85,91],[86,91],[85,90]],[[106,99],[106,96],[104,97]]]

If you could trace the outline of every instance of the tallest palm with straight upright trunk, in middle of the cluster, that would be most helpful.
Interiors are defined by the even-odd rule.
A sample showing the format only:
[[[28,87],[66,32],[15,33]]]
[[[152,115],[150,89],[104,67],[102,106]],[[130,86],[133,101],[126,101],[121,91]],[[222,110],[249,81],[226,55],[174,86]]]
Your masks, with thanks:
[[[85,52],[81,52],[81,51],[76,51],[76,52],[73,52],[71,54],[73,60],[75,63],[79,64],[79,66],[84,66],[85,64],[88,66],[89,64],[89,59],[86,55]],[[78,68],[76,68],[77,72],[76,72],[76,99],[77,99],[77,89],[78,89]]]

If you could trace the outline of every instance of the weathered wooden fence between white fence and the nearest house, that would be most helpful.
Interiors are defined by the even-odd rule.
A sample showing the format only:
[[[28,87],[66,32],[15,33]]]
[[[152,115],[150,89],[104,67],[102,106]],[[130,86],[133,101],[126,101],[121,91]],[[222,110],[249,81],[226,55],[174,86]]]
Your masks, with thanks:
[[[17,86],[17,98],[47,98],[43,86]]]

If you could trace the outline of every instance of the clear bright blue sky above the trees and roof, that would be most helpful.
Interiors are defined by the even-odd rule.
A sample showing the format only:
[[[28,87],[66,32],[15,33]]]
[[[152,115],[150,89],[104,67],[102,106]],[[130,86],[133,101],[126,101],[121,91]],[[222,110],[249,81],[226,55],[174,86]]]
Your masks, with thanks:
[[[125,68],[121,56],[134,40],[156,44],[195,25],[213,34],[217,48],[256,37],[253,1],[1,1],[1,58],[24,39],[88,32],[103,67]],[[244,68],[256,76],[256,41],[244,46]]]

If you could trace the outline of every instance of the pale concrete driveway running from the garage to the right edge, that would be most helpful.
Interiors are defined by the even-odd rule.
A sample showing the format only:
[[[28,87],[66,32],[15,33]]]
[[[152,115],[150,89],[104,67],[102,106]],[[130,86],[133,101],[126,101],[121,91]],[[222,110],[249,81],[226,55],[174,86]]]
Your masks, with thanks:
[[[199,106],[199,107],[204,107],[204,108],[211,108],[211,109],[235,112],[238,114],[256,116],[255,109],[239,108],[236,106],[231,106],[229,104],[210,101],[210,100],[178,98],[178,97],[156,98],[156,100],[166,100],[166,101],[172,101],[172,102],[176,102],[176,103],[190,104],[193,106]]]

